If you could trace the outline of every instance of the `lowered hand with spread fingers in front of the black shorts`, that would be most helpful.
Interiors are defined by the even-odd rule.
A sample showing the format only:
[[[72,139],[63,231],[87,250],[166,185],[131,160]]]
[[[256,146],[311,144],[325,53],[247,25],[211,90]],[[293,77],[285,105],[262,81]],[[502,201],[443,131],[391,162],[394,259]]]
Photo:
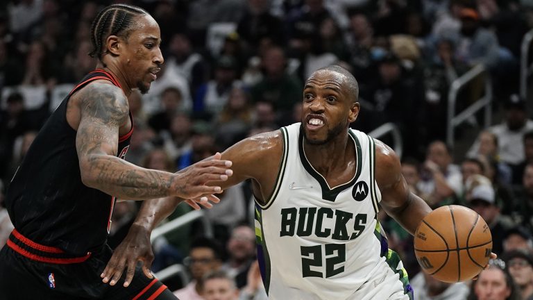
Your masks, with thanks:
[[[109,282],[110,285],[115,285],[122,276],[124,268],[126,268],[124,287],[128,287],[133,279],[135,267],[139,260],[142,262],[142,271],[146,277],[153,278],[150,271],[153,262],[150,232],[142,226],[133,224],[126,238],[113,252],[100,277],[103,278],[102,281],[104,283]]]

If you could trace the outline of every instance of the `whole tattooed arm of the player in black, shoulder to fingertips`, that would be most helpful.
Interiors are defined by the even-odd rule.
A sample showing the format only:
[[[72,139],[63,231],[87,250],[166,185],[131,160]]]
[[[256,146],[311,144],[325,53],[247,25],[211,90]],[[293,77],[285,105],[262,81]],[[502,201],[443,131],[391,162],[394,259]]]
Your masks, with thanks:
[[[114,85],[91,83],[76,95],[81,120],[76,150],[83,184],[115,197],[142,200],[167,196],[184,199],[213,194],[220,187],[208,181],[226,180],[230,162],[204,160],[179,174],[144,169],[121,160],[117,154],[119,128],[128,122],[128,100]]]

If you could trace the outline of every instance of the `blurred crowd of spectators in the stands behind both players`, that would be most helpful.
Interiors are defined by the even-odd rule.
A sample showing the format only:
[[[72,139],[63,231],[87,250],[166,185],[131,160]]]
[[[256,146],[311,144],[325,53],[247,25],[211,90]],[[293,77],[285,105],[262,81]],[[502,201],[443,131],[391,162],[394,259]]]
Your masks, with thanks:
[[[153,15],[165,60],[149,93],[128,99],[135,131],[126,160],[176,172],[242,138],[299,122],[307,76],[341,65],[359,82],[362,111],[353,128],[368,133],[396,124],[412,190],[433,208],[455,203],[480,213],[503,259],[475,285],[434,281],[418,272],[412,237],[382,216],[389,244],[421,291],[416,298],[485,299],[491,279],[483,279],[492,276],[507,287],[501,299],[533,299],[533,121],[526,99],[516,95],[521,42],[533,28],[532,1],[1,1],[0,203],[46,118],[94,69],[96,60],[87,55],[91,22],[115,2]],[[501,123],[482,128],[468,153],[453,157],[443,142],[448,92],[475,65],[490,74],[493,113]],[[480,97],[481,86],[468,85],[457,109]],[[475,123],[477,117],[469,119]],[[214,240],[202,237],[205,228],[196,223],[165,235],[154,242],[154,271],[174,263],[189,267],[193,280],[180,287],[187,299],[196,299],[189,298],[194,293],[222,299],[210,298],[221,290],[227,299],[237,299],[238,290],[246,299],[262,299],[254,234],[246,230],[253,226],[249,183],[221,199],[206,212]],[[112,245],[127,233],[136,210],[117,203]],[[188,212],[179,206],[169,220]],[[0,210],[1,244],[8,221]]]

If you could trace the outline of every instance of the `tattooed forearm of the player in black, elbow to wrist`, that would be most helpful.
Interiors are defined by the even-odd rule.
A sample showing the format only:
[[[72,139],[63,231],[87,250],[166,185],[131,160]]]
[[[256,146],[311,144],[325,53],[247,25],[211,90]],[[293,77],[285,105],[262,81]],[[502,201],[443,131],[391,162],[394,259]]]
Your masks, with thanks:
[[[81,160],[85,185],[121,199],[144,200],[170,195],[177,174],[144,169],[110,155],[92,155]]]

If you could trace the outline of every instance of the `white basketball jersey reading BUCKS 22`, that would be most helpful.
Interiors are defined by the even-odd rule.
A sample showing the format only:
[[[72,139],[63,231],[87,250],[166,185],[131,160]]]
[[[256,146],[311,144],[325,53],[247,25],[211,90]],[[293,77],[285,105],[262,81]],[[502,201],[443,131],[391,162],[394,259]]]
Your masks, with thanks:
[[[256,203],[255,233],[269,299],[409,299],[407,272],[377,221],[375,144],[349,131],[357,170],[330,187],[303,151],[300,123],[281,128],[275,188]],[[331,153],[331,155],[335,155]]]

